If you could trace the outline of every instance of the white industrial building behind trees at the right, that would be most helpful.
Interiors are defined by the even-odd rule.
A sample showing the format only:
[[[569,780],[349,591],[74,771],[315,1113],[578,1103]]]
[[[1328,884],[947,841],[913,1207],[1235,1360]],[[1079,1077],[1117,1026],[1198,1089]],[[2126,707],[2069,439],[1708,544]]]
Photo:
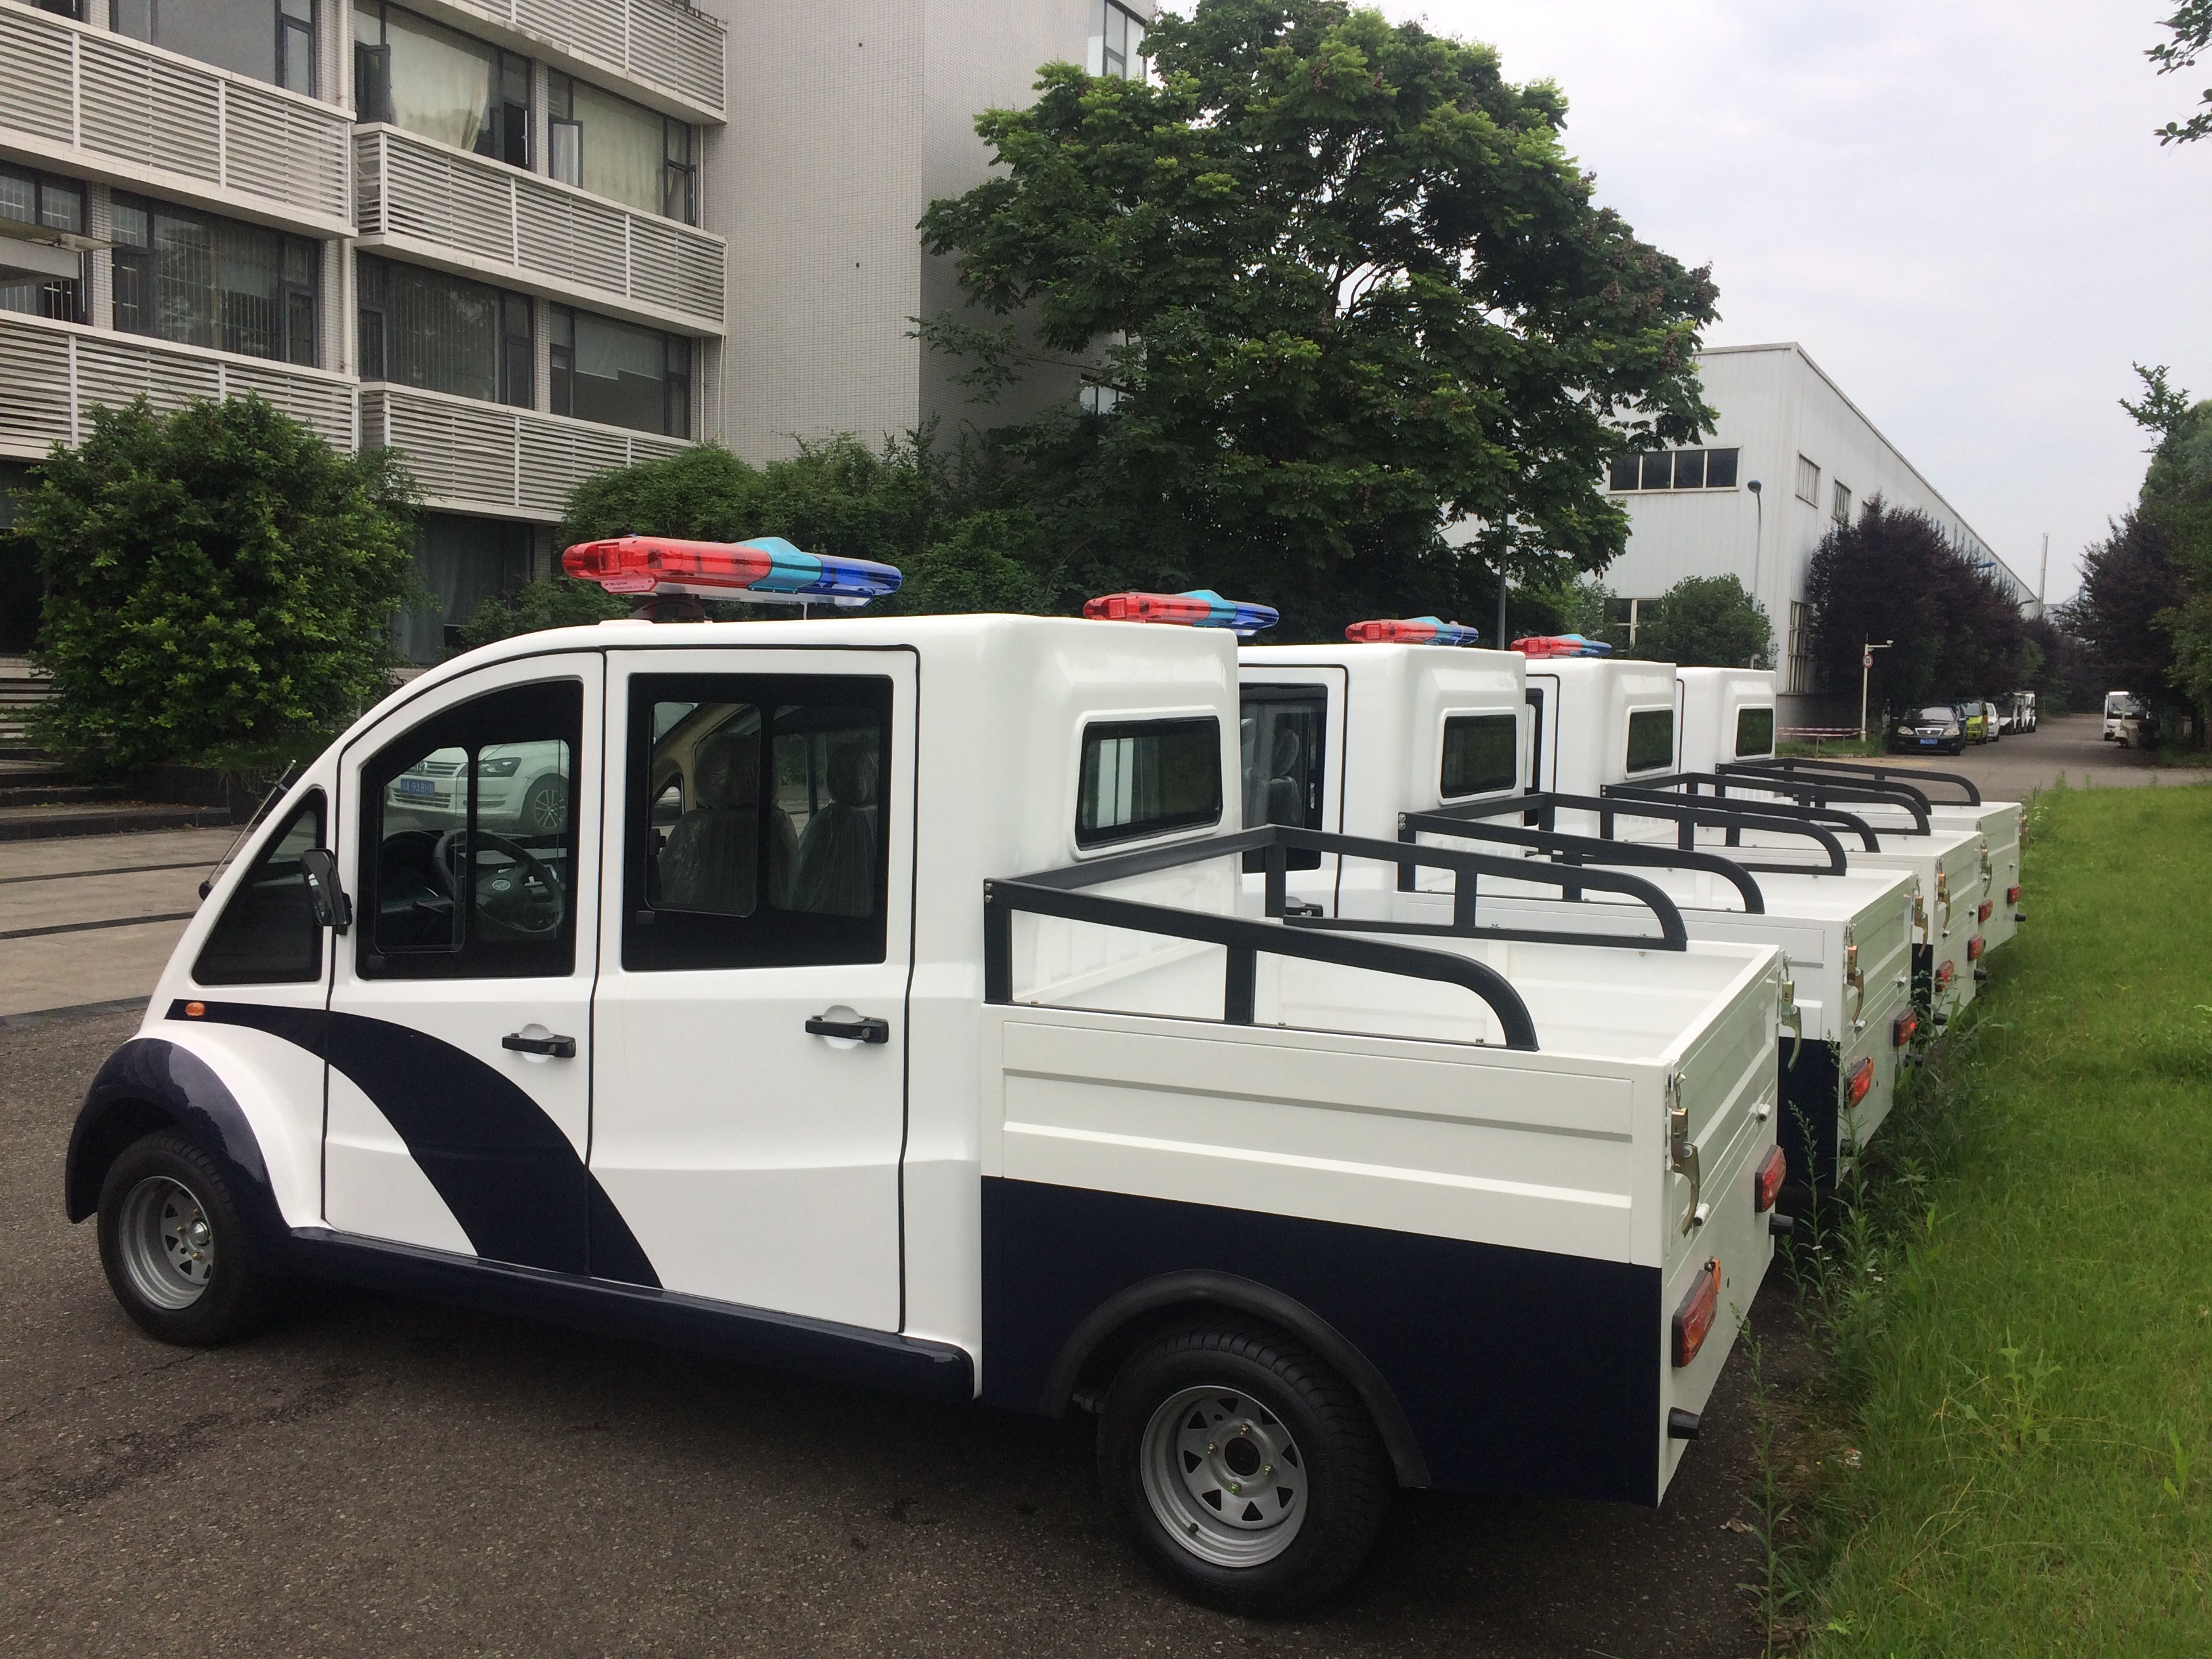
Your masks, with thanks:
[[[1728,345],[1699,354],[1705,403],[1719,411],[1701,449],[1621,456],[1608,484],[1628,509],[1628,551],[1604,582],[1621,624],[1688,575],[1734,575],[1774,622],[1781,719],[1818,723],[1805,575],[1820,538],[1880,495],[1942,526],[2013,599],[2035,588],[2000,560],[1920,471],[1858,411],[1801,345]],[[1763,664],[1767,666],[1767,664]],[[1995,690],[1995,688],[1991,688]]]

